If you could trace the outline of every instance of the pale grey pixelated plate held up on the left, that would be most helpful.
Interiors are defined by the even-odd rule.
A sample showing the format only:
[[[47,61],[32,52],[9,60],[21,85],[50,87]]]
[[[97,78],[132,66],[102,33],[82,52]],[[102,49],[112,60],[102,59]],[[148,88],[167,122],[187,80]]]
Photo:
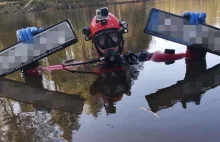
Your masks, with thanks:
[[[34,36],[32,44],[21,42],[0,52],[0,75],[39,60],[77,42],[70,22],[63,21]]]

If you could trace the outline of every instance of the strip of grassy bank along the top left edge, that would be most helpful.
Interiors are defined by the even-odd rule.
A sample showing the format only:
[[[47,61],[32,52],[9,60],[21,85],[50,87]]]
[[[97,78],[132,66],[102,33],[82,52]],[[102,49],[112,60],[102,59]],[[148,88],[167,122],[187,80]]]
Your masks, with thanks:
[[[148,0],[19,0],[1,1],[0,14],[17,14],[21,12],[40,12],[82,8],[88,6],[104,6]]]

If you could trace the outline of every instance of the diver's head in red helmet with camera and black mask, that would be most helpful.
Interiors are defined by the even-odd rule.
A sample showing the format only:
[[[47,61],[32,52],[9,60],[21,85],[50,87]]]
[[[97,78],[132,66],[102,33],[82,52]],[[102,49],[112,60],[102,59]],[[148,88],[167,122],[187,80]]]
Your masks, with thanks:
[[[96,10],[90,27],[83,29],[86,40],[92,40],[99,57],[105,57],[105,61],[115,63],[120,60],[123,51],[123,33],[127,33],[128,25],[118,20],[108,12],[108,8]]]

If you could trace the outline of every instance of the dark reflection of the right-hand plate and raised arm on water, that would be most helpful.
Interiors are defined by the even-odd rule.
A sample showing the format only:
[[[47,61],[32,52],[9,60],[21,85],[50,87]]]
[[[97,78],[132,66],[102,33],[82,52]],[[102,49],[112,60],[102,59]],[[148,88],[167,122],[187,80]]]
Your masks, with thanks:
[[[145,98],[153,112],[172,107],[178,102],[181,102],[184,109],[187,108],[189,102],[199,105],[206,91],[220,85],[219,74],[219,64],[206,69],[205,59],[201,61],[186,60],[186,74],[183,80],[146,95]]]

